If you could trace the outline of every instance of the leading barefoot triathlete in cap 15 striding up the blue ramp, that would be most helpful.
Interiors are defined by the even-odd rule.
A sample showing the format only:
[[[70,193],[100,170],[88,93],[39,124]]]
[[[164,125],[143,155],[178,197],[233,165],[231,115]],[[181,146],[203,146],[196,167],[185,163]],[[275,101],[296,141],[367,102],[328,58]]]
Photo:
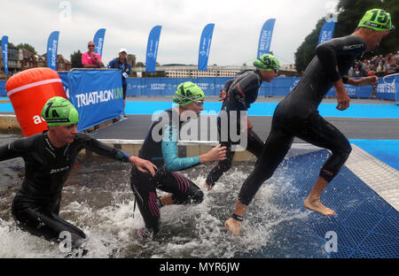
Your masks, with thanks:
[[[274,112],[262,157],[258,159],[254,171],[242,185],[236,210],[225,223],[233,234],[239,234],[247,205],[251,203],[262,183],[270,179],[291,148],[295,136],[332,151],[332,155],[320,170],[317,182],[304,206],[323,215],[334,214],[334,211],[325,207],[319,198],[327,184],[340,172],[351,147],[348,139],[318,114],[317,107],[332,85],[336,89],[337,109],[342,111],[349,105],[348,93],[343,82],[356,86],[378,83],[375,76],[354,80],[345,75],[355,58],[378,46],[389,30],[389,14],[375,9],[366,12],[352,35],[335,38],[317,46],[316,57],[309,64],[301,81],[278,104]]]

